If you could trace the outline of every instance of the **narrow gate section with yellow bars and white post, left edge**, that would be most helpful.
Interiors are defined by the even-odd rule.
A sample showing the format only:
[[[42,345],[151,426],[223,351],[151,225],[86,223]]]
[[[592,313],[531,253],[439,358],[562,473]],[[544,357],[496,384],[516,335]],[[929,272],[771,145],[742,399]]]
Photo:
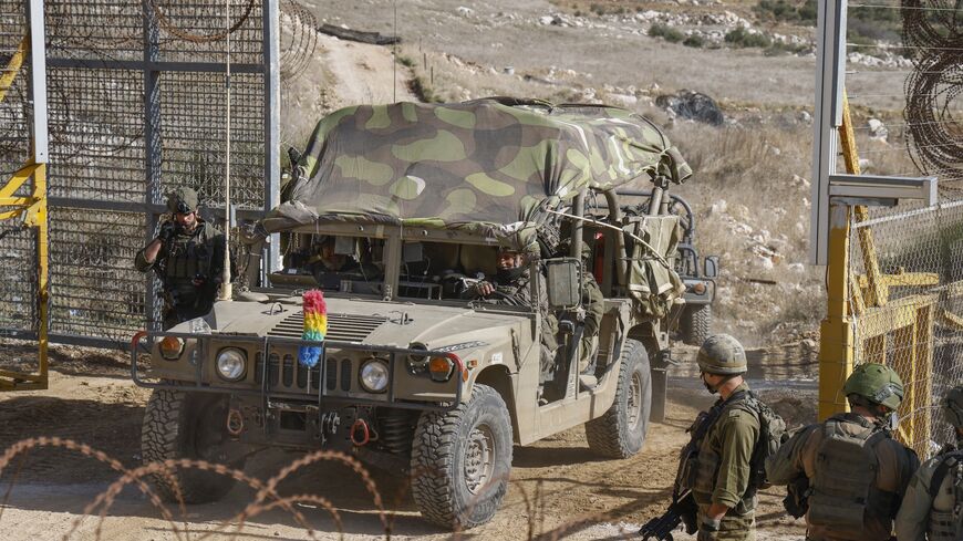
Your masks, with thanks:
[[[39,0],[0,4],[0,391],[46,388],[42,21]]]

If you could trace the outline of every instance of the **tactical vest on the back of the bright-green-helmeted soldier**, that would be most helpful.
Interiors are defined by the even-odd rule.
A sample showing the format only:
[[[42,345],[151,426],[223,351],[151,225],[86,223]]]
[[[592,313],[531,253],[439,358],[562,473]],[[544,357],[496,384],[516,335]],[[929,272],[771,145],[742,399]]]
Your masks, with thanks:
[[[822,443],[816,452],[816,476],[809,496],[809,523],[830,535],[860,539],[866,517],[895,516],[899,497],[877,488],[879,457],[876,446],[889,434],[880,427],[850,435],[843,423],[829,419],[822,426]]]

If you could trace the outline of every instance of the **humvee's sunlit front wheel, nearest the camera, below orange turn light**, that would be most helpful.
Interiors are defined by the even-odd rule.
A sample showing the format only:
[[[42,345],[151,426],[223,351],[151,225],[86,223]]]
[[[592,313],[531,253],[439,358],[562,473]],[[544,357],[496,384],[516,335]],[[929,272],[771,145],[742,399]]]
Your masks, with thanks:
[[[482,384],[451,412],[418,418],[412,445],[412,496],[422,516],[464,530],[491,520],[508,489],[511,420],[498,393]]]

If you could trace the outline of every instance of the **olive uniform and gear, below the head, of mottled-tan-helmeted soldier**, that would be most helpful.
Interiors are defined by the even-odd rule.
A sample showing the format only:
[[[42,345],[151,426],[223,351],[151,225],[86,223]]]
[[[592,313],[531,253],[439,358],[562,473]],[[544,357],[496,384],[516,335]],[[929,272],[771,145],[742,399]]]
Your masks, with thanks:
[[[692,487],[698,506],[698,522],[703,522],[713,503],[729,508],[719,523],[719,531],[712,538],[719,541],[755,539],[756,490],[749,487],[749,459],[759,439],[759,419],[741,407],[738,399],[748,391],[745,383],[733,391],[733,399],[725,404],[698,449],[698,466]],[[722,402],[719,398],[718,404]]]

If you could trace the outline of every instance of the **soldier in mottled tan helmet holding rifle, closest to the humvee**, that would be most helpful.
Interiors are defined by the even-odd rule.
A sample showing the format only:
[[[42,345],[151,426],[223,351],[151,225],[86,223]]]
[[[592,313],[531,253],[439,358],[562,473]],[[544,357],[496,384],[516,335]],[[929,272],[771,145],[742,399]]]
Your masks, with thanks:
[[[697,450],[694,462],[680,469],[680,481],[692,489],[697,506],[698,541],[755,539],[756,487],[752,486],[753,451],[760,424],[743,375],[746,352],[728,334],[710,336],[696,357],[705,388],[719,399],[696,418],[690,433]],[[697,426],[706,424],[708,426]],[[683,457],[685,460],[686,457]]]

